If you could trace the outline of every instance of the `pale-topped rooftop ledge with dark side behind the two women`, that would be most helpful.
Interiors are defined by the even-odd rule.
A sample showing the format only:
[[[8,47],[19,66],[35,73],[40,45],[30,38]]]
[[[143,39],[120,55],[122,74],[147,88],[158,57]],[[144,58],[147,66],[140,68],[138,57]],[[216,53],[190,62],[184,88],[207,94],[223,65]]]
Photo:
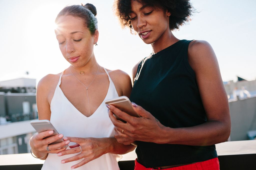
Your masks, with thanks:
[[[220,169],[255,169],[256,140],[231,141],[216,144]],[[135,151],[122,155],[120,170],[134,169]],[[44,160],[35,159],[30,153],[0,155],[0,169],[41,169]]]

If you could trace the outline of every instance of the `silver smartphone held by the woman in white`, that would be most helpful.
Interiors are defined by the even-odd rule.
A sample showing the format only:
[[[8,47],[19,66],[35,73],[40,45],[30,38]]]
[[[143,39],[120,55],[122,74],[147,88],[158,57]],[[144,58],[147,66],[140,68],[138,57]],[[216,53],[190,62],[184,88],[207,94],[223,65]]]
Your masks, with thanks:
[[[50,136],[47,136],[45,138],[49,138],[51,136],[59,134],[58,131],[55,129],[55,127],[51,124],[51,122],[49,120],[32,120],[32,121],[30,121],[30,124],[34,127],[34,129],[36,129],[36,131],[38,133],[41,133],[41,132],[44,132],[47,130],[53,130],[53,133]],[[61,139],[56,140],[55,142],[50,143],[50,144],[56,144],[56,143],[60,143],[63,141],[64,140],[61,138]],[[67,147],[68,147],[68,145],[63,146],[62,148],[67,148]]]

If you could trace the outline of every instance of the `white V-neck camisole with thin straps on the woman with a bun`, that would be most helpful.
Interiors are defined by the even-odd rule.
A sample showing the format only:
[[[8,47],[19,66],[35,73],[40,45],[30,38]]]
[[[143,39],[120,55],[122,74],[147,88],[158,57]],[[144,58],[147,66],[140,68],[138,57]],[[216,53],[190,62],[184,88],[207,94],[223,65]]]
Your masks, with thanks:
[[[105,99],[97,108],[97,110],[90,116],[86,117],[81,112],[79,112],[66,98],[60,89],[61,76],[58,85],[55,89],[54,96],[51,101],[51,123],[56,128],[59,133],[70,137],[94,137],[94,138],[104,138],[104,137],[114,137],[114,125],[112,124],[107,107],[105,105],[105,100],[118,97],[118,93],[115,89],[114,83],[112,82],[108,71],[104,68],[106,74],[109,77],[109,89],[106,94]],[[75,143],[70,142],[69,145]],[[69,147],[67,149],[70,149]],[[73,161],[69,163],[62,164],[61,160],[72,157],[76,154],[69,154],[63,156],[57,156],[57,154],[49,153],[42,169],[55,169],[55,170],[65,170],[71,169],[72,165],[81,162],[83,159],[78,161]],[[107,153],[99,158],[90,161],[89,163],[80,166],[76,169],[93,169],[93,170],[119,170],[117,160],[120,159],[119,155]]]

